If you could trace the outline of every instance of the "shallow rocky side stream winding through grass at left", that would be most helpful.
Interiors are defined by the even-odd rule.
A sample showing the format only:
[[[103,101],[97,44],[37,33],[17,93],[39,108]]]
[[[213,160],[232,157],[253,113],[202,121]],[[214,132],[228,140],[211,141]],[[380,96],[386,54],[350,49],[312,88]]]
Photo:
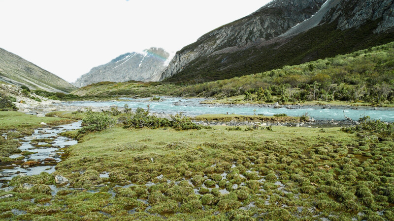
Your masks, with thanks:
[[[32,136],[20,138],[22,145],[19,147],[21,151],[33,152],[26,155],[24,162],[38,162],[37,165],[27,166],[23,162],[15,164],[2,164],[0,168],[0,185],[12,177],[17,175],[37,175],[41,172],[52,173],[55,166],[61,161],[63,149],[76,144],[78,141],[63,136],[60,133],[81,128],[81,121],[60,125],[56,127],[38,128],[34,130]],[[13,154],[10,158],[16,159],[23,156],[21,153]]]

